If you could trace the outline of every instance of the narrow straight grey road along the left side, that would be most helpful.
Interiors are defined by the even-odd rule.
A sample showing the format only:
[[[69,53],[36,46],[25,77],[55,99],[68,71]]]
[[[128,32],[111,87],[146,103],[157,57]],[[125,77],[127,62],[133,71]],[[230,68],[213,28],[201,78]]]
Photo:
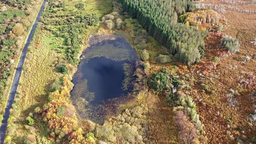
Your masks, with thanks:
[[[30,45],[30,42],[31,42],[31,39],[32,39],[33,34],[35,32],[37,23],[39,21],[39,18],[41,16],[42,12],[43,12],[43,9],[45,7],[46,1],[47,0],[43,0],[43,4],[42,4],[42,6],[39,10],[38,15],[36,16],[35,23],[33,24],[32,29],[30,31],[30,34],[29,34],[29,36],[26,40],[26,44],[25,44],[24,49],[22,51],[22,54],[21,54],[21,57],[20,57],[20,60],[19,60],[19,64],[18,64],[17,69],[16,69],[16,73],[14,75],[13,84],[12,84],[12,87],[11,87],[9,99],[8,99],[8,102],[7,102],[5,113],[3,115],[3,121],[2,121],[2,124],[1,124],[1,127],[0,127],[0,144],[3,144],[3,142],[4,142],[5,133],[6,133],[6,130],[7,130],[7,123],[8,123],[7,120],[8,120],[9,115],[10,115],[9,110],[10,110],[10,108],[12,108],[14,96],[16,94],[17,86],[18,86],[19,80],[20,80],[20,74],[21,74],[22,66],[24,64],[26,53],[28,51],[28,46]],[[24,104],[24,105],[26,105],[26,104]]]

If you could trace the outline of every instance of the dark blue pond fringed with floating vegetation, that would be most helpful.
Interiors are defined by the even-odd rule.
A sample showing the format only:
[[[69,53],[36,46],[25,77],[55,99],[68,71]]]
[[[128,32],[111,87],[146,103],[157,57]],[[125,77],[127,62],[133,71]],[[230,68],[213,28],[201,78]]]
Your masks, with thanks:
[[[138,63],[124,37],[92,36],[72,81],[71,98],[80,117],[102,124],[131,100]]]

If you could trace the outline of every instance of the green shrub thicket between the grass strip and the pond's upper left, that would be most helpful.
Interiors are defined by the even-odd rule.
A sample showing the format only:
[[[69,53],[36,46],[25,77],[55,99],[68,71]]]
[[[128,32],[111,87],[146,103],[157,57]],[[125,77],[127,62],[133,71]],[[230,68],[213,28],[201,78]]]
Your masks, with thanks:
[[[72,65],[77,65],[80,60],[78,53],[80,51],[80,45],[83,43],[82,33],[84,29],[89,26],[95,26],[99,19],[95,14],[79,14],[72,13],[70,15],[55,15],[54,8],[65,8],[64,3],[54,3],[54,0],[49,0],[49,6],[46,7],[45,13],[43,13],[43,23],[45,25],[57,26],[56,29],[50,29],[45,26],[46,29],[52,30],[56,36],[60,36],[65,39],[66,42],[66,57],[65,60]],[[59,20],[49,20],[49,17],[54,19],[56,17],[62,17]]]

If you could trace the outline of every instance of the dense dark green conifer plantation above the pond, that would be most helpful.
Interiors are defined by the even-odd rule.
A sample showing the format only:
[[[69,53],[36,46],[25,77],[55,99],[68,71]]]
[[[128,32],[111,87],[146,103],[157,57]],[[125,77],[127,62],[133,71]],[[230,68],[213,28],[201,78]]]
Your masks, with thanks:
[[[149,35],[170,50],[175,60],[188,65],[199,62],[205,33],[177,23],[178,16],[194,9],[190,0],[121,0],[121,3]]]

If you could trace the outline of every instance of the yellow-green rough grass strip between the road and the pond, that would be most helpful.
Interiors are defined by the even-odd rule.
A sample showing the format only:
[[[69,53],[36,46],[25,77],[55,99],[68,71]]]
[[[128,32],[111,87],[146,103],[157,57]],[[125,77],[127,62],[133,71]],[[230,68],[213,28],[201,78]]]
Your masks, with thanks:
[[[34,109],[48,101],[49,84],[62,74],[56,72],[55,65],[63,54],[56,53],[56,47],[63,42],[62,38],[55,37],[47,32],[39,33],[40,46],[33,48],[27,54],[23,73],[20,77],[19,92],[20,110]],[[29,75],[29,76],[28,76]]]

